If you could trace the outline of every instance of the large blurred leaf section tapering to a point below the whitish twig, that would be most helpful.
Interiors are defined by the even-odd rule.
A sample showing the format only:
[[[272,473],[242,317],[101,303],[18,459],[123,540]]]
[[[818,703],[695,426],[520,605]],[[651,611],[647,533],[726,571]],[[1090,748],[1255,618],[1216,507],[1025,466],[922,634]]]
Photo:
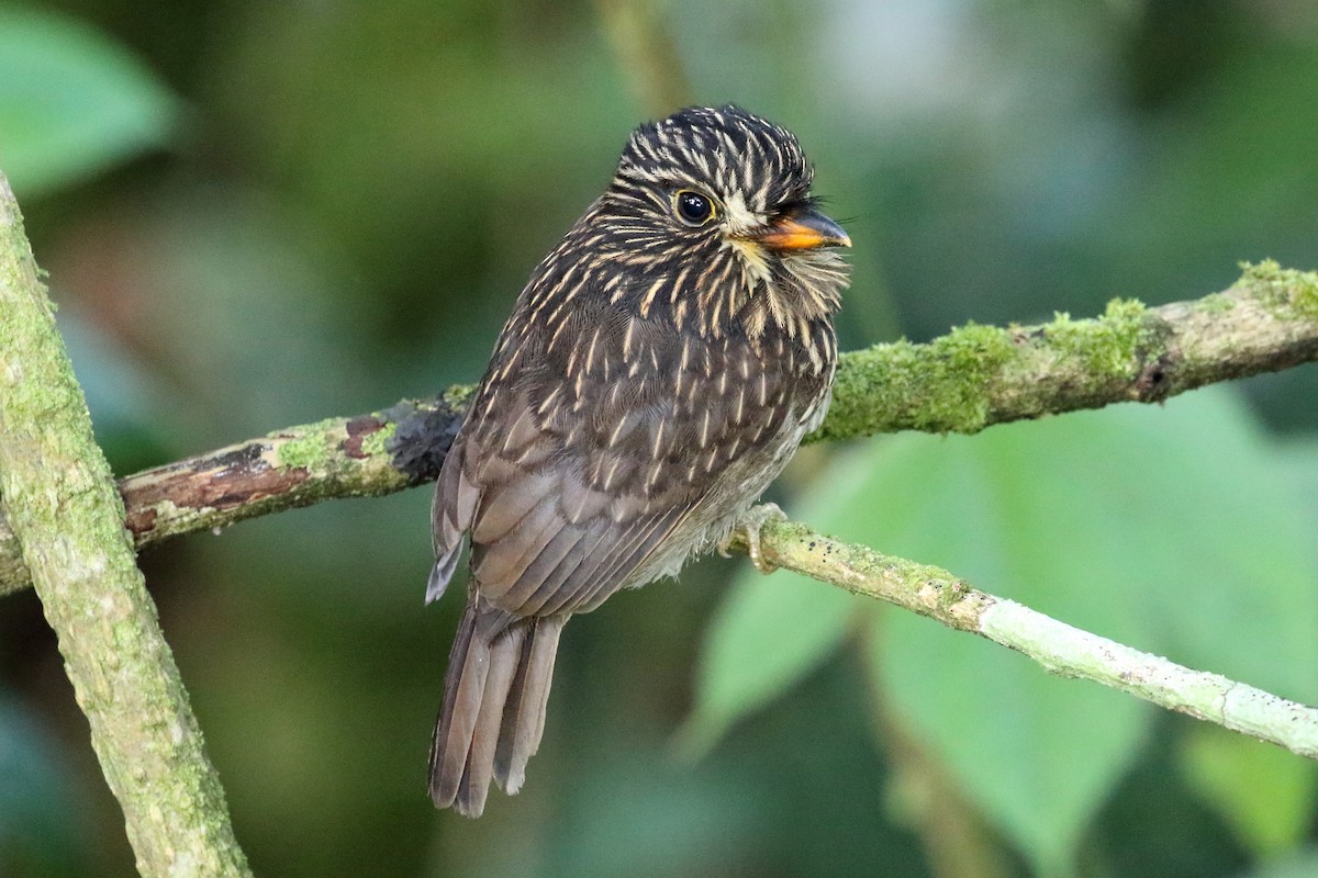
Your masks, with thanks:
[[[869,652],[890,706],[1041,874],[1066,874],[1139,753],[1148,708],[932,623],[888,621]]]

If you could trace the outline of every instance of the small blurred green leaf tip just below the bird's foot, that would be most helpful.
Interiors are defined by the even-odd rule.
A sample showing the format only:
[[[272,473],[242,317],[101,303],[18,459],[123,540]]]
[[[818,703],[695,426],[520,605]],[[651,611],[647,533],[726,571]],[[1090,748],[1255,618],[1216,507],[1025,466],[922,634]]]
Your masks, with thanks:
[[[738,719],[762,707],[832,653],[857,602],[793,573],[764,577],[749,566],[710,621],[696,681],[696,708],[683,728],[701,754]]]

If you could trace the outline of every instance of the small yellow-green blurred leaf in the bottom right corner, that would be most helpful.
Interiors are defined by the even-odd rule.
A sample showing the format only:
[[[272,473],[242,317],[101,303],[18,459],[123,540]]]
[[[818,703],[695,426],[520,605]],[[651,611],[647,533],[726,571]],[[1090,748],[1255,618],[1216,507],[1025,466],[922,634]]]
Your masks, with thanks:
[[[1318,788],[1313,763],[1272,744],[1199,724],[1181,749],[1181,767],[1259,857],[1304,841]]]

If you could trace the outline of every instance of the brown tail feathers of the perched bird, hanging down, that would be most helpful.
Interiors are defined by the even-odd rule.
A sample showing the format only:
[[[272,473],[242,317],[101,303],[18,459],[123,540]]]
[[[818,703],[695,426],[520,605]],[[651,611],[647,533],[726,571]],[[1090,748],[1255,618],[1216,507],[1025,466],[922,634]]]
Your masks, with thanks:
[[[507,624],[507,615],[467,603],[444,675],[444,702],[430,748],[430,798],[468,817],[485,810],[490,781],[509,795],[540,745],[559,632],[567,616]]]

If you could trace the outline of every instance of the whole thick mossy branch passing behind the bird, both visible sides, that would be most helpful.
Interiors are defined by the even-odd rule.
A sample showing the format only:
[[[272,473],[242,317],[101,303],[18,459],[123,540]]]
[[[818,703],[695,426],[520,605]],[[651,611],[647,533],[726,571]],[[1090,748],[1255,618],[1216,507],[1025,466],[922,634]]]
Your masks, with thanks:
[[[928,344],[842,355],[828,420],[812,440],[985,426],[1120,401],[1161,401],[1214,382],[1318,359],[1318,274],[1247,266],[1231,288],[1102,317],[969,325]],[[352,419],[290,426],[120,480],[138,548],[281,509],[434,480],[471,388]],[[26,587],[0,519],[0,595]]]

